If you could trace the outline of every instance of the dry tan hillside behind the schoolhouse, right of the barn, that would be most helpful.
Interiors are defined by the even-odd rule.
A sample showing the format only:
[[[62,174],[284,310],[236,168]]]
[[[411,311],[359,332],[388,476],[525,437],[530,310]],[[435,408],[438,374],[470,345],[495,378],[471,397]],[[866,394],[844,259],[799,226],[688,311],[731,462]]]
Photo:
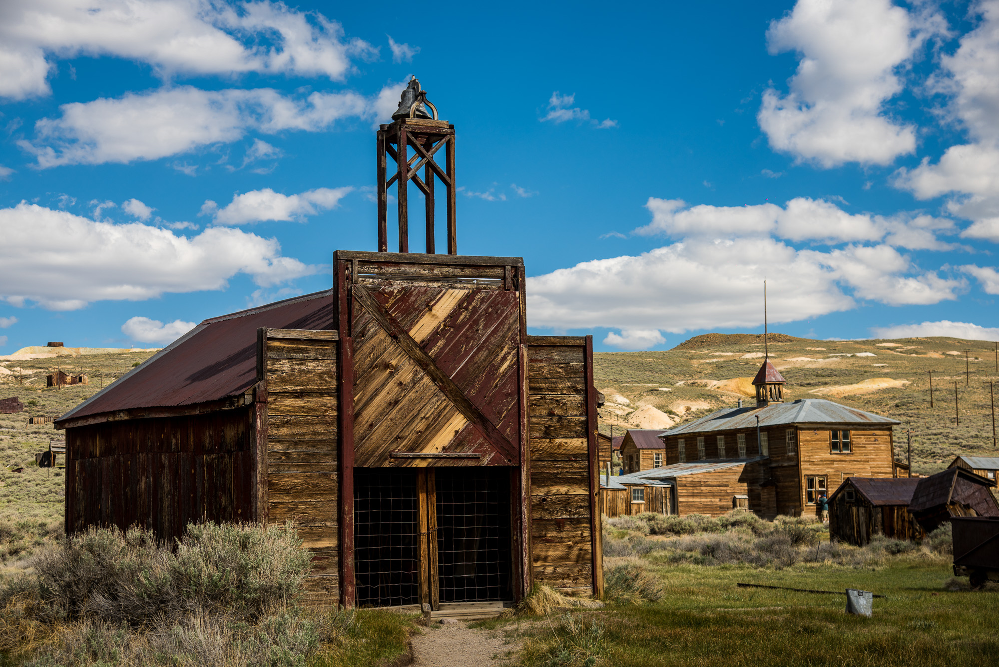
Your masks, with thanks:
[[[899,419],[896,456],[904,459],[905,430],[911,428],[916,472],[939,470],[957,454],[999,455],[989,398],[989,381],[999,384],[994,343],[948,337],[811,340],[782,333],[771,333],[769,340],[770,359],[787,379],[789,399],[827,398]],[[739,397],[753,404],[750,380],[762,357],[762,335],[746,333],[698,335],[666,351],[598,352],[594,375],[606,396],[600,430],[668,427],[734,406]]]

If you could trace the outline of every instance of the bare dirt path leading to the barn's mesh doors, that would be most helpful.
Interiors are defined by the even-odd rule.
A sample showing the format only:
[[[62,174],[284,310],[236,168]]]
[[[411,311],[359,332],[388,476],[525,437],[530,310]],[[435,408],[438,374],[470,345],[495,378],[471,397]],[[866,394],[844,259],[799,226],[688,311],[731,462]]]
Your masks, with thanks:
[[[424,634],[413,637],[414,667],[494,667],[510,664],[507,653],[520,642],[506,643],[498,630],[470,628],[461,621],[435,621]]]

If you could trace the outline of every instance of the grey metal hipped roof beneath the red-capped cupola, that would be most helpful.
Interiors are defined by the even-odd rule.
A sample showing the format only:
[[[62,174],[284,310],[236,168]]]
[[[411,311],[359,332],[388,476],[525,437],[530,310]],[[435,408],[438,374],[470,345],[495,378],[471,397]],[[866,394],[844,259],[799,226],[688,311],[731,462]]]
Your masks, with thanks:
[[[865,426],[902,423],[898,419],[856,407],[847,407],[824,398],[798,398],[789,403],[770,403],[763,407],[726,407],[690,423],[670,428],[659,437],[712,430],[755,428],[757,415],[759,415],[759,425],[763,427],[792,423],[841,423]]]

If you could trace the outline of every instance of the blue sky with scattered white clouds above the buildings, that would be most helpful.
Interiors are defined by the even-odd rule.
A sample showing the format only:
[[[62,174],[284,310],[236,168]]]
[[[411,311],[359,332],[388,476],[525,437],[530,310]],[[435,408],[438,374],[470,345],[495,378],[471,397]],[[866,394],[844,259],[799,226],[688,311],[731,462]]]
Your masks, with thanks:
[[[362,5],[3,3],[0,354],[330,287],[412,75],[531,333],[999,338],[999,1]]]

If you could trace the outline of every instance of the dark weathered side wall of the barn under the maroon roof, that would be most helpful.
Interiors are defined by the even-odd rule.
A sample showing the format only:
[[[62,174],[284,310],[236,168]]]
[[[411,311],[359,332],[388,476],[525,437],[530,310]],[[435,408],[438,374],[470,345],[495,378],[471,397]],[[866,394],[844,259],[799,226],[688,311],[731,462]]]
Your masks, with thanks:
[[[67,428],[66,532],[252,520],[253,441],[252,406]]]

